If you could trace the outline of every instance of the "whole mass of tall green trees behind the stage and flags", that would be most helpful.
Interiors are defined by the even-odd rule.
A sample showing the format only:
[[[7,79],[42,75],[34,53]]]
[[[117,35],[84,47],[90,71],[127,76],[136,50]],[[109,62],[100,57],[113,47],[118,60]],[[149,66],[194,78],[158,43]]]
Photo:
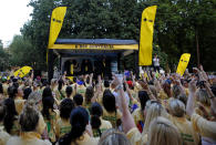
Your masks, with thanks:
[[[21,29],[45,66],[52,9],[68,6],[59,38],[140,40],[142,11],[157,4],[154,45],[163,68],[175,69],[182,53],[192,53],[189,66],[196,65],[196,43],[205,70],[215,71],[216,0],[31,0],[32,20]],[[196,37],[198,38],[196,40]],[[167,55],[166,55],[167,54]],[[44,65],[42,65],[44,64]],[[173,70],[175,71],[175,70]]]

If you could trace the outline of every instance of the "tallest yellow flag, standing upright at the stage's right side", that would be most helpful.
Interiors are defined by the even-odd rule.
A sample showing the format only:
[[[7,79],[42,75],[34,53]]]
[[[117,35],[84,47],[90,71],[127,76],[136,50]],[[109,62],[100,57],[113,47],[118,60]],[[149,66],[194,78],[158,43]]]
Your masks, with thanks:
[[[156,6],[152,6],[142,13],[138,65],[152,65],[152,42],[156,9]]]

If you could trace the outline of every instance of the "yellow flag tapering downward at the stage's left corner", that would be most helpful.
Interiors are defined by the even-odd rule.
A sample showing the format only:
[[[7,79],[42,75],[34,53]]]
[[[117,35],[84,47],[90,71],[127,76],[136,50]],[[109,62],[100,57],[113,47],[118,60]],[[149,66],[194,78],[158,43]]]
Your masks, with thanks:
[[[52,48],[52,45],[56,41],[56,38],[63,24],[65,13],[66,7],[58,7],[52,11],[48,48]]]

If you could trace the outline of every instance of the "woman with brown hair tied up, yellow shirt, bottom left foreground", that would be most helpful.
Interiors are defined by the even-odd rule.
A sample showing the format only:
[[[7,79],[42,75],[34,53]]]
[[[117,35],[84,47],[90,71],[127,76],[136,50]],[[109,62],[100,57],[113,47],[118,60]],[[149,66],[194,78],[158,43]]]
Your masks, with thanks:
[[[19,124],[21,127],[20,136],[10,137],[7,145],[52,145],[49,141],[41,139],[37,131],[40,114],[32,106],[27,105],[20,115]]]

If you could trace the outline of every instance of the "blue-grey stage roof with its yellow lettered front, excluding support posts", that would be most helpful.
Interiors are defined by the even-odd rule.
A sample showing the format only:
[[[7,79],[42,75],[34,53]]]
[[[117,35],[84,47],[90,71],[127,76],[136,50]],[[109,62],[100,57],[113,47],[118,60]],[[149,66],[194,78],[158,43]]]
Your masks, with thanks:
[[[95,53],[112,55],[138,51],[138,43],[135,40],[115,39],[58,39],[50,49],[62,56]]]

